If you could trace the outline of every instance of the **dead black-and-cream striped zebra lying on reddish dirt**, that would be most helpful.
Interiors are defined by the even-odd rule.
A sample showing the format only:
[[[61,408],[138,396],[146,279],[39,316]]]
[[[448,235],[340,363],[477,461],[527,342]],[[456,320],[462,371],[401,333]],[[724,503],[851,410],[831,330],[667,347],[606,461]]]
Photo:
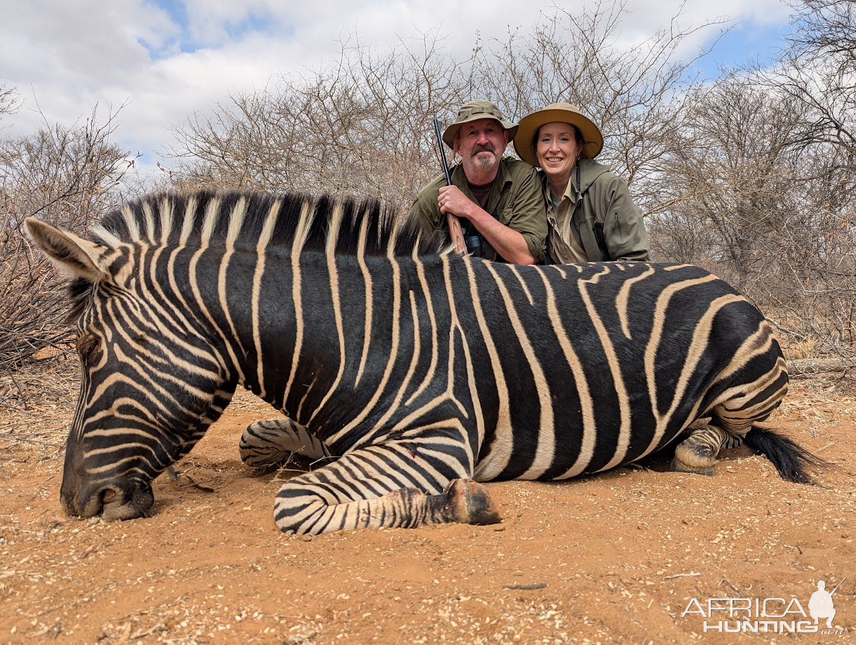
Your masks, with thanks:
[[[588,475],[678,439],[675,470],[710,474],[745,440],[811,481],[811,454],[757,426],[788,388],[770,323],[696,266],[491,263],[377,200],[303,194],[153,194],[91,239],[26,226],[73,278],[71,516],[150,513],[152,481],[239,385],[288,417],[248,428],[245,461],[324,459],[276,494],[287,534],[496,523],[483,482]]]

